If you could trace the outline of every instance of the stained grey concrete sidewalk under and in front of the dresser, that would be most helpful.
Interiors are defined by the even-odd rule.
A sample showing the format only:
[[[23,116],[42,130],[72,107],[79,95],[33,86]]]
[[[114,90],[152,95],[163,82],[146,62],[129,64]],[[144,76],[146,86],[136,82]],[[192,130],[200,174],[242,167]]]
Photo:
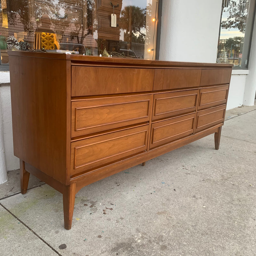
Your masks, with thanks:
[[[212,134],[82,188],[71,230],[58,191],[9,172],[0,255],[255,256],[255,106],[226,117],[219,150]]]

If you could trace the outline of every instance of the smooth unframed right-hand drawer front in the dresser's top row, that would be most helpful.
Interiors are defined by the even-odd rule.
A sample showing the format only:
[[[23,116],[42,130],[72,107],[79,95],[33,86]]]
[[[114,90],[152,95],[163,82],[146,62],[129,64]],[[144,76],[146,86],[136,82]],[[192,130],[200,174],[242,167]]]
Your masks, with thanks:
[[[203,69],[200,85],[229,84],[231,68]]]

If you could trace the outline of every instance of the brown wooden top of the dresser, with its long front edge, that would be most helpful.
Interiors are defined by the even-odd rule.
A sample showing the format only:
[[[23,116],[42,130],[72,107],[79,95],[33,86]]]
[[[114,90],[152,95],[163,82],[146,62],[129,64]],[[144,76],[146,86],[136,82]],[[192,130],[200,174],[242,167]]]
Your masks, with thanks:
[[[129,58],[106,58],[98,56],[83,56],[75,54],[45,53],[45,52],[24,52],[8,51],[11,56],[50,58],[59,60],[70,60],[72,64],[92,65],[117,65],[117,66],[143,66],[143,67],[178,67],[178,68],[232,68],[233,64],[201,63],[201,62],[179,62],[164,60],[143,60]]]

